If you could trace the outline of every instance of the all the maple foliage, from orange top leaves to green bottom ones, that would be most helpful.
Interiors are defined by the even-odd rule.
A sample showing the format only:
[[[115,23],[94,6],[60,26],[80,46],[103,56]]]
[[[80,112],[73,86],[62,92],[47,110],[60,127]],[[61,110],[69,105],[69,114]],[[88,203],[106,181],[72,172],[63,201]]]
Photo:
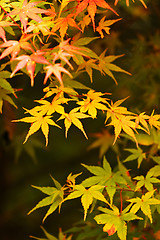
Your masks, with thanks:
[[[140,2],[146,8],[145,2]],[[113,3],[117,5],[118,0]],[[126,0],[126,5],[129,6],[129,0]],[[39,73],[45,75],[44,85],[48,84],[43,89],[44,95],[41,99],[35,100],[36,106],[31,109],[24,108],[25,114],[29,116],[13,120],[31,124],[24,143],[41,129],[47,146],[49,126],[61,128],[57,124],[59,120],[64,120],[66,137],[73,124],[88,139],[81,119],[95,119],[98,113],[102,112],[105,126],[109,131],[112,126],[114,134],[104,130],[99,135],[99,140],[90,148],[100,146],[102,157],[122,135],[134,141],[137,147],[126,149],[131,154],[124,162],[137,159],[138,168],[143,159],[152,159],[156,163],[146,176],[133,177],[120,161],[118,170],[112,170],[105,158],[103,167],[83,164],[94,176],[86,178],[80,184],[75,181],[80,174],[70,174],[63,186],[53,177],[55,187],[33,186],[48,196],[29,213],[50,205],[44,221],[57,208],[60,209],[66,200],[80,197],[84,220],[89,209],[91,212],[101,211],[103,213],[94,215],[95,222],[103,224],[103,231],[109,236],[117,233],[121,240],[126,240],[127,222],[145,218],[145,223],[147,219],[152,223],[156,210],[160,213],[157,190],[160,183],[160,115],[155,114],[154,110],[150,115],[145,112],[131,112],[127,107],[121,106],[127,98],[113,102],[106,97],[110,93],[95,91],[79,82],[80,76],[87,73],[92,83],[93,71],[106,75],[106,78],[111,78],[116,84],[113,72],[130,75],[128,71],[113,63],[123,55],[107,55],[106,50],[98,54],[90,48],[92,41],[100,41],[110,34],[110,26],[121,18],[105,0],[13,0],[5,3],[0,1],[0,7],[0,60],[7,59],[0,68],[0,112],[2,113],[4,101],[16,107],[10,95],[17,98],[18,89],[12,88],[9,81],[19,75],[19,71],[29,76],[32,87],[35,81],[38,81],[36,76]],[[108,12],[114,14],[115,19],[110,19]],[[86,37],[87,28],[93,30],[94,36]],[[149,153],[139,145],[148,146]],[[30,154],[33,155],[33,152]],[[115,196],[119,196],[119,202],[115,200]],[[155,206],[154,210],[151,205]],[[45,230],[44,233],[48,239],[56,239]],[[71,239],[71,236],[67,238],[60,232],[59,239]]]

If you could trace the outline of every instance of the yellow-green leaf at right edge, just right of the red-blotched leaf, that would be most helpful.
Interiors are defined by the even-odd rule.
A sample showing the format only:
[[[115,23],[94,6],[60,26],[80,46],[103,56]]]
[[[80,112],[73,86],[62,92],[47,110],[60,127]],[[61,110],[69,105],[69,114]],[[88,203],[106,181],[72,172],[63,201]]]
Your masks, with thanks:
[[[142,195],[141,198],[136,197],[127,200],[128,202],[131,202],[133,204],[130,212],[136,213],[139,209],[142,210],[142,212],[150,219],[150,222],[152,223],[152,214],[150,205],[160,204],[160,200],[156,199],[153,196],[155,190],[147,192],[145,195]]]

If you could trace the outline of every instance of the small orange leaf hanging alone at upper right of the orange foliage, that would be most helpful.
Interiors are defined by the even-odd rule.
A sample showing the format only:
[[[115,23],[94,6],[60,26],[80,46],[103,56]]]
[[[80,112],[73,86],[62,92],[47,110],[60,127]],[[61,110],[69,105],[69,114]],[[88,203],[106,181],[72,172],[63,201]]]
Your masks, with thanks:
[[[107,33],[110,34],[109,30],[109,26],[111,26],[112,24],[114,24],[115,22],[120,21],[122,18],[119,19],[115,19],[115,20],[107,20],[105,21],[106,16],[104,16],[100,21],[99,21],[99,25],[98,27],[96,27],[96,31],[99,32],[99,34],[101,35],[101,38],[104,38],[104,34],[103,34],[103,30]]]

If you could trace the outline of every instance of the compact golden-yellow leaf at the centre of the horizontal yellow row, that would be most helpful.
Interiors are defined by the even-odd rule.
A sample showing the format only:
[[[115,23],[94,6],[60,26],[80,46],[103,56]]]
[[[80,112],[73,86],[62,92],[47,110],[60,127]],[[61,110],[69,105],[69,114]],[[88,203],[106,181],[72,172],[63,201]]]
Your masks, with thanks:
[[[104,104],[100,103],[106,103],[106,98],[100,97],[105,94],[101,92],[95,92],[94,90],[90,90],[87,94],[84,94],[84,96],[87,96],[87,98],[83,101],[77,102],[77,104],[81,105],[80,112],[88,112],[92,118],[96,118],[97,109],[100,109],[102,111],[107,110],[107,107]]]

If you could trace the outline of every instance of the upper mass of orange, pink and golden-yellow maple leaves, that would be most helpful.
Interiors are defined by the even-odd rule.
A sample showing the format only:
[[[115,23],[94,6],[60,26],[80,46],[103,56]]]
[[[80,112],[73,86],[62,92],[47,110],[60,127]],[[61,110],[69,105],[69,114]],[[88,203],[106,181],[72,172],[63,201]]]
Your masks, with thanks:
[[[7,41],[5,31],[1,27],[0,37],[4,43],[2,43],[0,47],[4,49],[4,51],[0,59],[11,55],[11,67],[14,69],[10,77],[13,77],[19,70],[26,68],[27,74],[31,78],[31,86],[34,85],[34,77],[38,71],[45,72],[44,84],[47,83],[49,78],[51,80],[51,85],[44,89],[44,92],[46,92],[45,96],[41,100],[36,101],[40,106],[36,106],[30,110],[25,109],[26,113],[29,113],[31,117],[16,120],[31,123],[25,142],[29,136],[41,128],[45,135],[47,145],[49,125],[59,127],[59,125],[51,119],[55,112],[61,115],[58,120],[64,119],[66,136],[71,124],[74,124],[87,138],[79,119],[88,117],[96,118],[97,110],[106,112],[106,122],[108,119],[111,120],[108,125],[114,126],[114,142],[123,130],[134,138],[138,146],[134,131],[136,132],[140,129],[149,133],[148,124],[159,129],[160,116],[155,115],[154,112],[151,116],[144,113],[135,115],[129,112],[127,108],[119,107],[124,100],[117,101],[114,104],[112,101],[109,103],[107,101],[108,99],[102,98],[105,94],[95,92],[94,90],[79,95],[79,93],[75,91],[75,88],[86,89],[87,87],[78,84],[76,80],[68,78],[75,79],[83,71],[86,71],[92,82],[92,69],[96,69],[102,74],[107,74],[117,83],[111,71],[128,73],[112,63],[121,57],[121,55],[106,56],[106,51],[104,51],[98,56],[86,47],[86,45],[96,39],[95,37],[83,37],[83,32],[90,21],[92,22],[93,30],[99,32],[101,38],[103,38],[103,30],[109,33],[108,26],[120,20],[105,21],[106,17],[103,17],[99,21],[99,25],[95,26],[97,6],[116,13],[105,1],[77,1],[72,8],[70,8],[70,1],[62,1],[58,14],[58,5],[56,3],[53,5],[49,3],[44,4],[44,2],[20,1],[19,3],[12,2],[7,5],[7,7],[6,5],[1,6],[2,11],[4,11],[1,19],[6,18],[5,21],[1,21],[1,23],[4,24],[3,26],[6,28],[9,27],[9,31],[12,29],[11,25],[19,27],[21,30],[19,40]],[[10,10],[9,13],[7,13],[8,8]],[[85,15],[86,11],[88,15]],[[77,18],[80,17],[82,20],[77,20]],[[84,26],[84,18],[86,17],[88,17],[88,22]],[[75,28],[79,33],[73,36],[73,38],[65,40],[69,26]],[[56,41],[56,46],[46,49],[46,45],[49,46],[53,42],[53,39]],[[17,61],[18,64],[15,66]],[[36,70],[37,68],[38,70]],[[70,70],[68,68],[70,68]],[[2,71],[2,74],[5,74],[5,71]],[[2,99],[11,102],[7,94],[13,93],[14,90],[10,85],[7,86],[7,89],[3,90]],[[8,92],[9,89],[12,92]],[[53,98],[51,98],[52,95]],[[45,98],[50,98],[51,101],[47,101]],[[72,108],[72,110],[67,113],[63,104],[67,104],[69,101],[75,101],[80,107]],[[87,112],[88,114],[86,114]]]

